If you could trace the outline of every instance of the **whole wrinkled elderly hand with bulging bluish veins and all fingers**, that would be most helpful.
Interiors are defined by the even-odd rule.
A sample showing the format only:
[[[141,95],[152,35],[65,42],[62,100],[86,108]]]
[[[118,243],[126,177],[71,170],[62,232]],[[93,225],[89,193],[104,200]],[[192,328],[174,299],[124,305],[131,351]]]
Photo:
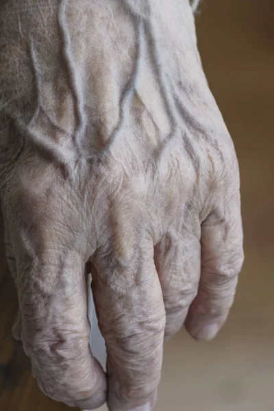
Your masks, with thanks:
[[[236,154],[190,4],[1,0],[0,92],[14,332],[38,384],[149,411],[164,338],[216,335],[243,258]],[[88,346],[88,261],[107,375]]]

